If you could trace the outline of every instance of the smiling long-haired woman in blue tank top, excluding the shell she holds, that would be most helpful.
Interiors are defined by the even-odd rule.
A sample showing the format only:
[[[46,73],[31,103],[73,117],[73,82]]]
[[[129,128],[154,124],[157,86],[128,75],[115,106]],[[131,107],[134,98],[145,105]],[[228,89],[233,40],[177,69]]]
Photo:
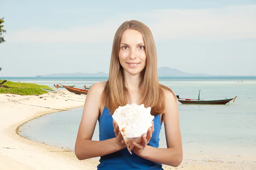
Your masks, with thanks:
[[[141,143],[126,149],[112,114],[119,106],[151,107],[153,125]],[[99,141],[92,136],[99,121]],[[167,148],[159,147],[164,123]],[[109,78],[90,87],[75,144],[79,160],[100,156],[98,170],[162,170],[162,164],[177,167],[183,159],[177,98],[161,85],[157,74],[157,51],[150,29],[140,21],[122,23],[113,39]]]

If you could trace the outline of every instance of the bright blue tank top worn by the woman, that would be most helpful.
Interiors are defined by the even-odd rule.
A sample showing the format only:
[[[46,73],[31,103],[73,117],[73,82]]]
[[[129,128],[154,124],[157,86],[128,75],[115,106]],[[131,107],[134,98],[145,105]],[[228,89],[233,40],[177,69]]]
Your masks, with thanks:
[[[113,128],[112,114],[109,114],[108,108],[104,107],[102,115],[99,117],[99,140],[103,141],[116,137]],[[160,115],[157,115],[153,119],[154,121],[154,132],[148,143],[152,147],[159,146],[159,133],[161,130]],[[133,150],[132,155],[128,152],[125,147],[114,153],[110,153],[105,156],[101,156],[100,164],[97,166],[98,170],[163,170],[162,164],[149,161],[140,156],[137,156]]]

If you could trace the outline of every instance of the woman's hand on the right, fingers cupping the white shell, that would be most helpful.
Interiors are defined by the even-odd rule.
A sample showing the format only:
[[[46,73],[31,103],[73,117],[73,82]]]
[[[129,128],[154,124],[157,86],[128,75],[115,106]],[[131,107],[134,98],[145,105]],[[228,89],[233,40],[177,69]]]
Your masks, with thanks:
[[[141,142],[140,143],[132,142],[132,144],[134,145],[133,150],[134,150],[135,154],[140,155],[140,153],[142,153],[144,148],[149,143],[153,132],[154,132],[154,121],[152,121],[152,126],[148,129],[147,137],[145,137],[145,135],[141,136]]]

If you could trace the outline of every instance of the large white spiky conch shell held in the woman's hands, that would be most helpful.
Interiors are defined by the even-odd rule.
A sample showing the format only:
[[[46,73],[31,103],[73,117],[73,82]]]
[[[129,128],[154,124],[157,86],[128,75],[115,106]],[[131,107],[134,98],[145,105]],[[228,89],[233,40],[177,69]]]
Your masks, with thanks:
[[[132,142],[141,142],[141,136],[147,135],[148,129],[152,126],[154,116],[150,114],[151,107],[145,108],[144,105],[119,106],[112,117],[118,125],[126,147],[131,154]]]

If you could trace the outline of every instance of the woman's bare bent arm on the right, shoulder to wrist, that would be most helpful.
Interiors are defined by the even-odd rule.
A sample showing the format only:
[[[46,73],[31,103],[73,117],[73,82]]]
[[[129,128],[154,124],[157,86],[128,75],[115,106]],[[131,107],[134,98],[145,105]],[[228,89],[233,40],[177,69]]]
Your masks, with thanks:
[[[163,122],[167,148],[147,145],[138,155],[150,161],[177,167],[183,159],[177,100],[170,91],[165,93],[166,111],[163,113]]]

